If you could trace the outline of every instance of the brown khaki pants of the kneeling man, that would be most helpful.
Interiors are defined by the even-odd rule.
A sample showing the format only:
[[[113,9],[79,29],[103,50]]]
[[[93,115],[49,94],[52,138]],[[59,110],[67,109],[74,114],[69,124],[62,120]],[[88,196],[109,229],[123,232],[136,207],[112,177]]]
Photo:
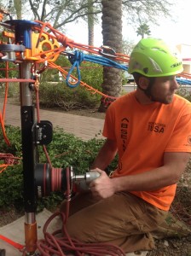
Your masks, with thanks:
[[[65,211],[65,203],[61,211]],[[109,242],[125,253],[154,248],[150,232],[157,230],[167,212],[130,193],[116,193],[96,201],[90,192],[72,198],[67,231],[82,242]]]

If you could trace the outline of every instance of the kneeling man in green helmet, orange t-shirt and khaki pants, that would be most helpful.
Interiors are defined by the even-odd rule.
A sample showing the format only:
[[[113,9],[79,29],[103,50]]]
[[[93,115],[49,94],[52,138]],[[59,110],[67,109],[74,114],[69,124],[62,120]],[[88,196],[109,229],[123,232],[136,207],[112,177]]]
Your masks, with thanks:
[[[137,90],[107,109],[107,137],[93,171],[100,177],[71,203],[67,230],[84,242],[110,242],[124,252],[154,247],[176,184],[191,153],[191,103],[175,95],[182,61],[159,39],[145,38],[130,55]],[[104,170],[119,154],[112,177]]]

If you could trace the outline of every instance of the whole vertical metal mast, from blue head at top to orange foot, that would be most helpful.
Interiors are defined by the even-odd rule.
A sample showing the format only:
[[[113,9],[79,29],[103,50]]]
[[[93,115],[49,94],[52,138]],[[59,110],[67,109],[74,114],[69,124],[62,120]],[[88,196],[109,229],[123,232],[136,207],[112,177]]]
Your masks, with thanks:
[[[29,20],[10,20],[14,26],[15,44],[22,44],[26,49],[32,49],[32,27],[37,23]],[[20,63],[20,79],[31,79],[32,61],[23,60]],[[34,106],[32,104],[32,89],[28,82],[20,83],[20,117],[21,141],[23,158],[23,183],[25,204],[25,238],[26,255],[36,255],[37,223],[35,212],[37,197],[35,195],[34,169],[37,163],[37,147],[33,138],[35,125]]]

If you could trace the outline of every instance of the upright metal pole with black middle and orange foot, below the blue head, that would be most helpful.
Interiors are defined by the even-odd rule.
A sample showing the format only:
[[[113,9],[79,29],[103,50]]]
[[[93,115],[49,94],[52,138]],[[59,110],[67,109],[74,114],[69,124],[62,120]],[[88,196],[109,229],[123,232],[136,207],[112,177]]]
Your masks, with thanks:
[[[20,64],[20,79],[31,79],[31,63]],[[32,90],[29,83],[20,83],[20,116],[23,154],[23,181],[25,203],[26,255],[34,255],[37,249],[36,195],[34,167],[37,162],[37,148],[33,142],[32,128],[35,122],[32,105]]]

